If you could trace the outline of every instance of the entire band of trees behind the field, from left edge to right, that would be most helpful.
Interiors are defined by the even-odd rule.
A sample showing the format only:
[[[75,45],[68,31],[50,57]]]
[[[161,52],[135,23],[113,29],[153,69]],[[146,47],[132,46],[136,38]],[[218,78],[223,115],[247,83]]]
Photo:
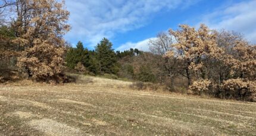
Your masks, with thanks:
[[[65,71],[111,75],[159,83],[169,90],[256,101],[256,47],[233,31],[180,25],[149,41],[151,51],[114,51],[103,38],[95,50],[82,42],[70,47],[69,12],[57,0],[5,0],[0,3],[0,81],[18,75],[65,83]],[[14,17],[7,18],[6,12]],[[18,73],[18,74],[17,74]]]

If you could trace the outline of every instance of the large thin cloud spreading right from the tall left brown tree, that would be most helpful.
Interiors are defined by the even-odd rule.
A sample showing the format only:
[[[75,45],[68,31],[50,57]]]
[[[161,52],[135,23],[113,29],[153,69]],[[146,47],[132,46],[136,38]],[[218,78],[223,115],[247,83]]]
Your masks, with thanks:
[[[198,0],[197,0],[198,1]],[[68,41],[87,40],[95,46],[101,38],[143,27],[155,12],[188,7],[193,0],[66,0],[71,31]]]

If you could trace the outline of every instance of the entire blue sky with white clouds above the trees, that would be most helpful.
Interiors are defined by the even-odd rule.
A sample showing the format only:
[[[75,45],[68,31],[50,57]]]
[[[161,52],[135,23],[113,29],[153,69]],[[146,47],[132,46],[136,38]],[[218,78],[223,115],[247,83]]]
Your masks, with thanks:
[[[108,38],[115,50],[148,51],[148,41],[179,24],[241,33],[256,44],[256,0],[66,0],[73,47],[82,41],[93,50]]]

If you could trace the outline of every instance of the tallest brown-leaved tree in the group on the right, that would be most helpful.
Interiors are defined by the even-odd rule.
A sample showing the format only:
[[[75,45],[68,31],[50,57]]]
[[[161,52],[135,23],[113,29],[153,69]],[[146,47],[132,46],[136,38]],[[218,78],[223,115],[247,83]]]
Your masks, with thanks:
[[[188,25],[180,25],[180,30],[170,30],[170,34],[177,43],[173,44],[175,51],[168,51],[167,56],[177,56],[183,62],[181,66],[185,72],[180,74],[188,79],[188,85],[191,85],[193,74],[196,79],[207,79],[205,59],[217,58],[222,51],[217,46],[216,33],[201,24],[198,30]]]

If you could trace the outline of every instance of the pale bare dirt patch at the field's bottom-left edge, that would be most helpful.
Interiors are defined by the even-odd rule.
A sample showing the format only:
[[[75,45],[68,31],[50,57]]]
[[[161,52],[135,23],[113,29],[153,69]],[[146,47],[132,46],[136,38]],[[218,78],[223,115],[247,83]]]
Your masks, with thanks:
[[[66,124],[61,124],[52,119],[32,120],[28,123],[30,127],[44,132],[46,135],[82,135],[79,129],[70,127]]]

